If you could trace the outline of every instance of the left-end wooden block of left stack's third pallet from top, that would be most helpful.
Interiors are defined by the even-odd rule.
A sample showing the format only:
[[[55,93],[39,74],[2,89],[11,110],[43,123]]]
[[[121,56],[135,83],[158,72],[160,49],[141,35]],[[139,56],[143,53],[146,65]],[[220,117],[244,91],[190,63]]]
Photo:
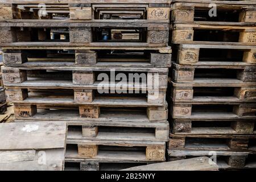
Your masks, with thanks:
[[[27,61],[27,55],[22,52],[4,52],[3,63],[5,64],[22,64]]]

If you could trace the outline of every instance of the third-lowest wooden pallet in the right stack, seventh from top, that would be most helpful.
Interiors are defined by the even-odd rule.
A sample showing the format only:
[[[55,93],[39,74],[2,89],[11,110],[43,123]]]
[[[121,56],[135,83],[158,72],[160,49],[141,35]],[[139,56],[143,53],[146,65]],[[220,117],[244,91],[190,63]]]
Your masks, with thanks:
[[[255,120],[247,119],[172,119],[172,133],[178,134],[256,134]]]

